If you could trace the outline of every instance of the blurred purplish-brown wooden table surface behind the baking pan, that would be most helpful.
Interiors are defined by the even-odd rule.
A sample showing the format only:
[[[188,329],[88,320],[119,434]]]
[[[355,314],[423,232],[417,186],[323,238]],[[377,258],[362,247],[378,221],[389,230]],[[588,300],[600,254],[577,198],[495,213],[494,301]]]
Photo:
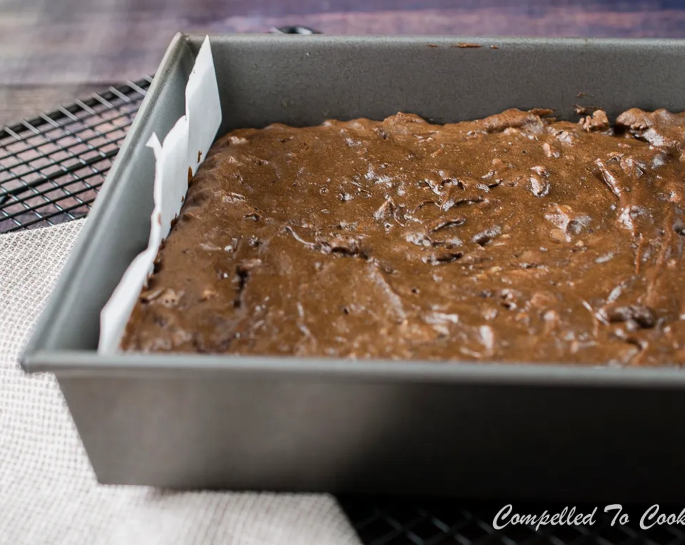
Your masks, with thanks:
[[[0,126],[155,70],[178,30],[685,38],[682,0],[0,0]]]

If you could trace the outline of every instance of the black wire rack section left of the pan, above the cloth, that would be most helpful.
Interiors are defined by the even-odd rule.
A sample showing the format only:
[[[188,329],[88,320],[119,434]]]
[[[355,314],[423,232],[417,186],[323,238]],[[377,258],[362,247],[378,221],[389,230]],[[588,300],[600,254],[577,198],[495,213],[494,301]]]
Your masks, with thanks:
[[[150,82],[112,86],[0,130],[0,232],[85,216]]]

